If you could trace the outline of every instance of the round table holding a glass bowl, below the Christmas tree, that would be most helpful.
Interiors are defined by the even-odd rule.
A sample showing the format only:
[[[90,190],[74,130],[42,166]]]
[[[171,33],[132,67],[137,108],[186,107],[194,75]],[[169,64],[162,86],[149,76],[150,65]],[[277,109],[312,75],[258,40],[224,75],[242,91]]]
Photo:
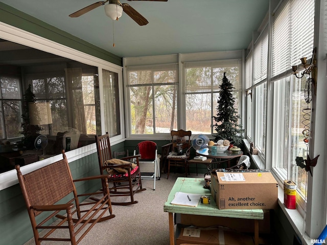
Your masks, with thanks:
[[[215,163],[219,164],[222,162],[228,162],[228,167],[230,167],[229,162],[233,158],[237,158],[243,155],[242,151],[224,151],[224,152],[212,152],[208,148],[196,150],[196,153],[200,156],[204,156],[207,158],[215,159]]]

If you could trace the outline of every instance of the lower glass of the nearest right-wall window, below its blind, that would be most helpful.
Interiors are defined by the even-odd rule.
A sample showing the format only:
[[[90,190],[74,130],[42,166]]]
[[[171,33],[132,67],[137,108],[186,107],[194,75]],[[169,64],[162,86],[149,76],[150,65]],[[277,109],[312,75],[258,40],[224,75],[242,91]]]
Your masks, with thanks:
[[[311,108],[305,102],[305,83],[305,78],[287,77],[274,85],[273,163],[283,179],[296,183],[302,199],[306,197],[307,172],[296,165],[296,157],[307,159],[308,154],[302,133],[310,124]]]

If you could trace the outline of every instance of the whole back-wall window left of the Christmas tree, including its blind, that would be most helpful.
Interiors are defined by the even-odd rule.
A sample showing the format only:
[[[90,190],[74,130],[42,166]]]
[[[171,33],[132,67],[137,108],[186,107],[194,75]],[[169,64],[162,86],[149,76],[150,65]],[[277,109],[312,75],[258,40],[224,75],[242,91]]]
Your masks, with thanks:
[[[178,65],[127,67],[131,134],[177,129]]]

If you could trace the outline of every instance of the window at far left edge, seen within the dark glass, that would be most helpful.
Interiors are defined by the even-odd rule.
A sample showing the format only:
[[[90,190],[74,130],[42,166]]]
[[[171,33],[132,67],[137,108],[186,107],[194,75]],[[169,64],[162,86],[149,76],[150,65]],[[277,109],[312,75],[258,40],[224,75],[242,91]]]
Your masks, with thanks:
[[[0,139],[20,137],[21,91],[18,77],[0,76]]]

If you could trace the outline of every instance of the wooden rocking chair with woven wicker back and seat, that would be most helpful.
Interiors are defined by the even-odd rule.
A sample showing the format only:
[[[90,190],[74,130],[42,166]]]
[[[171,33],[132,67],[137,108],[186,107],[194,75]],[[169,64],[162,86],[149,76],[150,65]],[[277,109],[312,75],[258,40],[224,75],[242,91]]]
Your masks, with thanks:
[[[21,173],[19,165],[15,166],[37,245],[40,245],[43,240],[71,241],[73,245],[78,244],[97,222],[102,222],[115,216],[112,214],[106,176],[73,180],[64,151],[62,151],[62,155],[62,160],[25,175]],[[103,180],[102,182],[105,183],[104,190],[77,194],[74,182],[95,179]],[[101,194],[102,198],[98,202],[84,201],[80,203],[80,197],[85,198],[94,194]],[[67,195],[72,199],[68,202],[63,202],[63,198]],[[83,210],[80,208],[81,206],[86,207],[86,205],[90,206],[87,206],[87,209],[83,208]],[[49,212],[42,213],[43,211]],[[65,211],[66,215],[59,214],[62,211]],[[41,213],[42,215],[40,215]],[[36,219],[38,215],[40,217]],[[54,217],[62,220],[58,224],[53,225],[51,223]],[[41,222],[39,222],[40,219]],[[85,229],[83,229],[84,227]],[[45,229],[46,233],[41,236],[39,230],[42,229]],[[62,237],[61,233],[59,235],[54,233],[57,229],[67,229],[69,237]]]

